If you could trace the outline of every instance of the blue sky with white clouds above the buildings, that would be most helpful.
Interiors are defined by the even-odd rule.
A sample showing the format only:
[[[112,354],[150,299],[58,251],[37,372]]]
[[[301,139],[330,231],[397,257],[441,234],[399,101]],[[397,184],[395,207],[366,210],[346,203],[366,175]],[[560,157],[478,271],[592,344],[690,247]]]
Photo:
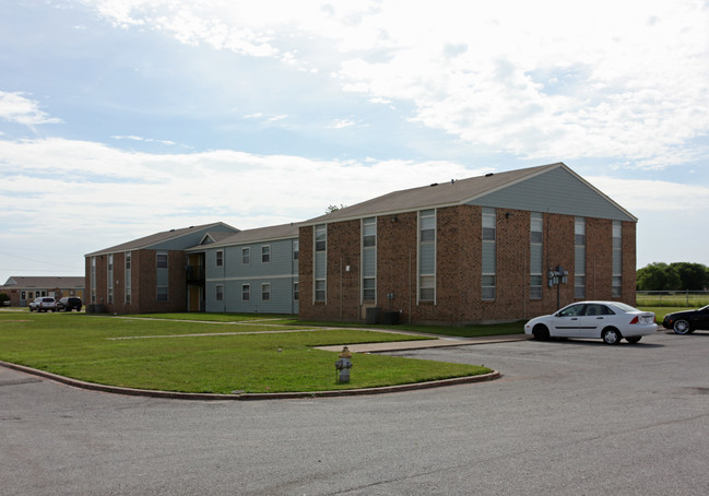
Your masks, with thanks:
[[[709,1],[0,0],[0,284],[556,162],[709,265]]]

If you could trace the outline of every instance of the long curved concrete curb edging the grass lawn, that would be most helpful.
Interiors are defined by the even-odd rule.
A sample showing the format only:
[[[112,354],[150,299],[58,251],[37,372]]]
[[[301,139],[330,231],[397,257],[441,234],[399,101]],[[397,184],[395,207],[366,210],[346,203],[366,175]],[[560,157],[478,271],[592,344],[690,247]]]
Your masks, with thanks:
[[[94,382],[86,382],[70,377],[59,376],[57,374],[39,370],[36,368],[25,367],[24,365],[11,364],[8,362],[0,362],[0,366],[11,368],[24,374],[50,379],[63,385],[73,386],[75,388],[87,389],[90,391],[109,392],[113,394],[126,394],[133,397],[147,397],[147,398],[165,398],[173,400],[199,400],[199,401],[253,401],[253,400],[292,400],[299,398],[338,398],[338,397],[354,397],[365,394],[383,394],[391,392],[414,391],[417,389],[432,389],[441,388],[446,386],[457,386],[473,382],[485,382],[495,380],[500,377],[497,370],[489,374],[480,376],[454,377],[452,379],[432,380],[428,382],[414,382],[409,385],[386,386],[381,388],[364,388],[364,389],[340,389],[335,391],[310,391],[310,392],[267,392],[267,393],[240,393],[240,394],[212,394],[200,392],[177,392],[177,391],[157,391],[150,389],[134,389],[121,388],[118,386],[105,386]]]

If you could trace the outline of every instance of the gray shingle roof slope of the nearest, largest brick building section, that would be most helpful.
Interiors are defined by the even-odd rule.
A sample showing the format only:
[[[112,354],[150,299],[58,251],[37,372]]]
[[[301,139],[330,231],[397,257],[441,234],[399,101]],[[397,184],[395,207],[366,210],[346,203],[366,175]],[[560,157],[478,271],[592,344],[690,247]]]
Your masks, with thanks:
[[[303,224],[311,225],[322,222],[361,219],[369,215],[406,212],[424,208],[459,205],[470,202],[482,194],[488,194],[557,167],[566,167],[566,165],[559,162],[556,164],[541,165],[507,173],[487,174],[485,176],[394,191],[310,219]]]

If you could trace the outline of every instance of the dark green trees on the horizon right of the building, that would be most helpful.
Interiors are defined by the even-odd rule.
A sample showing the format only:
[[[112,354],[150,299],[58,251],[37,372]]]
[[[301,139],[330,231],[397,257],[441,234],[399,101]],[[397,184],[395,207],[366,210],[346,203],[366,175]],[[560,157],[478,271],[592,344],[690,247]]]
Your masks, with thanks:
[[[638,269],[638,291],[706,291],[709,267],[689,262],[654,262]]]

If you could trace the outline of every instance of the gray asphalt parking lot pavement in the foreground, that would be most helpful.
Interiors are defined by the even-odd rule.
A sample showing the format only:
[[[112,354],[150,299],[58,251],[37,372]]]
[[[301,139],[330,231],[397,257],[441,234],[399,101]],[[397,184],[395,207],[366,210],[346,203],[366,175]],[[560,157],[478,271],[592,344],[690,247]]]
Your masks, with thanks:
[[[392,354],[484,364],[503,377],[369,397],[187,402],[0,368],[0,493],[709,493],[708,332]]]

